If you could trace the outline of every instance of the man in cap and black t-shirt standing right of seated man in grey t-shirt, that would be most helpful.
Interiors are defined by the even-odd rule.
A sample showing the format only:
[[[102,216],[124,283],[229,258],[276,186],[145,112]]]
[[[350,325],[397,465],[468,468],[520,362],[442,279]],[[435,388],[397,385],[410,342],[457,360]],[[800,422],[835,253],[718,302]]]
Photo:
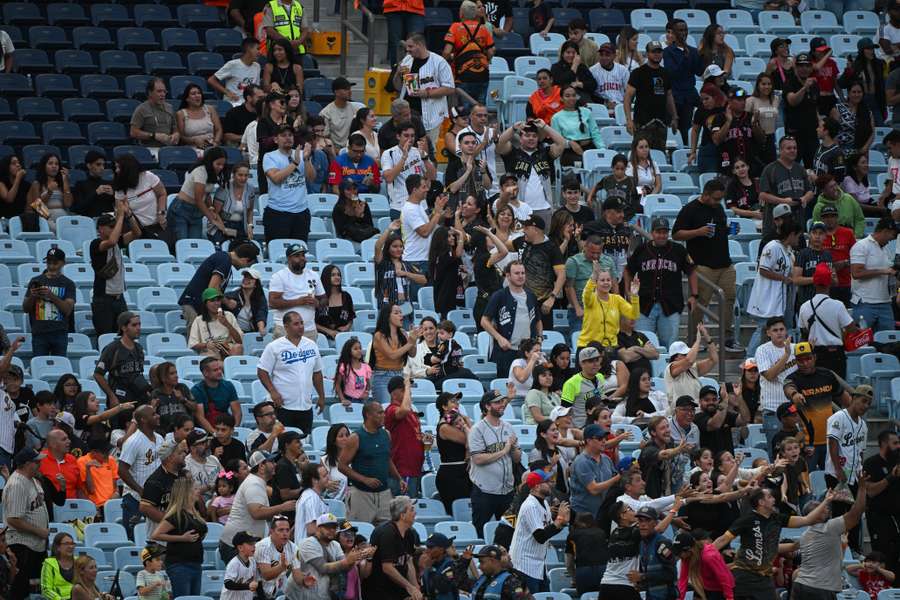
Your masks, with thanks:
[[[646,51],[647,62],[632,71],[625,87],[625,126],[633,136],[646,137],[651,148],[665,151],[666,127],[679,130],[672,78],[662,67],[662,44],[648,42]]]

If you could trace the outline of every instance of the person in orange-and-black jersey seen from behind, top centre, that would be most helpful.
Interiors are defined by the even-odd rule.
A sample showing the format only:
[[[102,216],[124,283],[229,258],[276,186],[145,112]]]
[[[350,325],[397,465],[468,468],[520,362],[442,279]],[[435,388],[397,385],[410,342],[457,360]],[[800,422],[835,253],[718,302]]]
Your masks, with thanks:
[[[478,20],[478,7],[467,0],[459,8],[459,21],[444,36],[444,60],[453,62],[456,87],[478,104],[487,101],[494,36]]]

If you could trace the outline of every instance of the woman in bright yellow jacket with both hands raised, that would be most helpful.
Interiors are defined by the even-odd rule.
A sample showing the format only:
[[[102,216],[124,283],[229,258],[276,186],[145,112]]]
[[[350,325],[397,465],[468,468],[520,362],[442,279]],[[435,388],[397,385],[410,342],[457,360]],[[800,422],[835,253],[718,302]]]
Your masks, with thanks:
[[[584,286],[581,300],[584,305],[584,321],[581,335],[578,336],[578,348],[584,348],[591,342],[599,342],[606,348],[618,345],[619,319],[622,315],[636,319],[640,313],[638,290],[640,283],[631,282],[631,302],[618,294],[610,292],[612,276],[609,271],[601,271],[600,264],[594,263],[594,272]]]

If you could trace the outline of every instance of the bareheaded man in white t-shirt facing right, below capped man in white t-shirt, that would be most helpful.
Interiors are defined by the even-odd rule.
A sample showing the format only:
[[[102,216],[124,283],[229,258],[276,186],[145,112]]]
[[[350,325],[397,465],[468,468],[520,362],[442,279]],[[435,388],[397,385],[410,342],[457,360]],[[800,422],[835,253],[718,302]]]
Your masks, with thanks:
[[[434,201],[434,210],[428,215],[428,207],[425,196],[428,194],[430,180],[419,174],[406,178],[408,198],[403,203],[400,211],[400,233],[403,236],[403,260],[416,267],[421,273],[430,271],[428,264],[428,250],[431,248],[431,235],[434,228],[447,215],[444,207],[447,206],[449,196],[441,194]],[[410,295],[416,298],[419,286],[410,282]]]

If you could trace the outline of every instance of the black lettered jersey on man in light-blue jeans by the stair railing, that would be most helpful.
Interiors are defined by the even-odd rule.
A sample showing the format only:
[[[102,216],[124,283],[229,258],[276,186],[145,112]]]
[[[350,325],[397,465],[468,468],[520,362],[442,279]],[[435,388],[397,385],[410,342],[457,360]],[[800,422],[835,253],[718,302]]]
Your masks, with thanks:
[[[694,270],[694,262],[684,246],[672,242],[657,246],[646,242],[634,251],[627,267],[632,276],[640,278],[641,313],[649,315],[657,303],[666,316],[681,312],[684,308],[681,276]]]

